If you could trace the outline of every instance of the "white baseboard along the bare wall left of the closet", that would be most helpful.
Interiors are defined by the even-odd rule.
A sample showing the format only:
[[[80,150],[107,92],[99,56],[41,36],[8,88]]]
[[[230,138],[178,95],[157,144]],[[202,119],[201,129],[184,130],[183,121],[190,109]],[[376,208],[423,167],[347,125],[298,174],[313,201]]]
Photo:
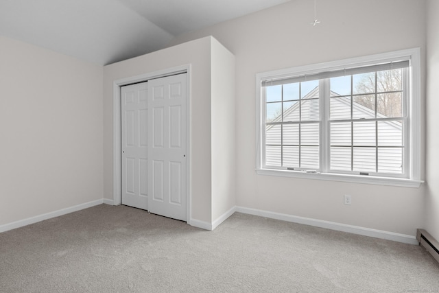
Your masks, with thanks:
[[[51,211],[49,213],[43,213],[43,215],[36,215],[35,217],[19,220],[16,222],[3,224],[0,226],[0,233],[9,231],[15,228],[20,228],[27,226],[29,224],[34,224],[36,222],[48,220],[51,218],[59,217],[60,215],[66,215],[67,213],[73,213],[73,211],[80,211],[82,209],[88,209],[89,207],[95,207],[96,205],[104,203],[104,200],[93,200],[92,202],[85,202],[84,204],[78,204],[73,207],[67,207],[65,209],[60,209],[58,211]]]

